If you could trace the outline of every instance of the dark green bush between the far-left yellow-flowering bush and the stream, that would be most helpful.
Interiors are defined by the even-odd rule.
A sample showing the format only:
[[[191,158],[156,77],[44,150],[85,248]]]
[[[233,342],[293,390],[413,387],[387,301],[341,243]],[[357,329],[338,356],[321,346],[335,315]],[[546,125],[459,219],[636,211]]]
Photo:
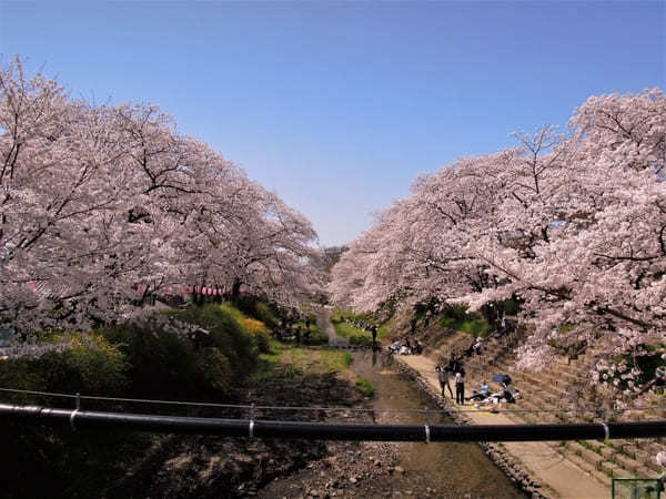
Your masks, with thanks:
[[[245,333],[229,310],[215,304],[170,312],[167,317],[172,319],[168,328],[147,320],[101,329],[127,358],[134,397],[226,398],[255,366],[260,348],[268,348],[268,338]],[[200,329],[179,333],[183,328],[173,319]]]

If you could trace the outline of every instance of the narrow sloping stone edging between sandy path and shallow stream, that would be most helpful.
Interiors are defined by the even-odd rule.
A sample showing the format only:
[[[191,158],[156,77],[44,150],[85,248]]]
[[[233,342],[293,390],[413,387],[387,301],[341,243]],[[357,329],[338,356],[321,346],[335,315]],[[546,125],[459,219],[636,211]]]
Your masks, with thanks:
[[[413,369],[412,367],[404,364],[400,357],[393,357],[394,361],[398,369],[410,376],[418,386],[418,389],[426,394],[441,409],[443,409],[456,424],[458,425],[468,425],[471,420],[464,415],[458,413],[457,410],[452,410],[451,407],[446,404],[444,397],[438,394],[438,391],[426,380],[423,378],[421,373]],[[523,469],[519,462],[511,457],[507,452],[502,449],[497,444],[493,442],[478,442],[478,446],[482,450],[491,458],[491,460],[502,470],[504,473],[516,483],[516,486],[527,493],[528,497],[533,499],[551,499],[551,496],[545,493],[542,490],[542,483],[539,483],[535,478],[531,477],[525,469]]]

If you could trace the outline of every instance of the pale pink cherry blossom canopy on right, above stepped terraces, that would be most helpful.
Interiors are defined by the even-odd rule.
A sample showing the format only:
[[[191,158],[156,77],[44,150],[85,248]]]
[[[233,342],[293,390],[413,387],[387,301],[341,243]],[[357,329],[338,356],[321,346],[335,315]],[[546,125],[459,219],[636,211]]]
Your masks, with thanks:
[[[663,342],[665,116],[659,90],[591,98],[567,135],[518,133],[515,149],[418,177],[333,268],[333,296],[475,309],[518,295],[524,366]]]

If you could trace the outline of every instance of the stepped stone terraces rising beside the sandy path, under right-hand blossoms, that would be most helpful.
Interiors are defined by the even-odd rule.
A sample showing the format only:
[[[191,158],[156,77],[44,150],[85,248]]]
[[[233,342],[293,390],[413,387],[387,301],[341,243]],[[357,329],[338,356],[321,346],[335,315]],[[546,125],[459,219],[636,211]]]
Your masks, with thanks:
[[[605,419],[647,420],[664,419],[663,396],[646,394],[633,400],[627,410],[605,410],[603,397],[591,383],[589,368],[584,358],[558,363],[538,371],[515,369],[516,338],[493,340],[482,356],[472,357],[467,367],[475,386],[492,373],[508,374],[524,394],[516,404],[523,413],[508,413],[514,422],[561,424],[601,422]],[[632,409],[633,407],[633,409]],[[662,408],[659,408],[662,407]],[[646,409],[647,408],[647,409]],[[610,478],[657,478],[663,470],[655,461],[660,450],[666,450],[663,439],[613,439],[608,441],[579,440],[554,442],[552,447],[587,475],[605,486]]]

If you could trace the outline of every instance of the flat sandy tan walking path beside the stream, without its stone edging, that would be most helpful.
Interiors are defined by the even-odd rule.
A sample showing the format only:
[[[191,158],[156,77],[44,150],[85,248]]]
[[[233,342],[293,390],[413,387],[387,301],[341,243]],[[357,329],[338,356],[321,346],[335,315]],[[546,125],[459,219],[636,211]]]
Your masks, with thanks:
[[[438,390],[435,373],[435,361],[422,355],[405,355],[397,357]],[[448,401],[448,400],[447,400]],[[465,413],[475,425],[513,425],[502,414],[476,411],[472,405],[465,406],[472,410]],[[519,459],[523,467],[534,478],[555,492],[562,499],[608,499],[610,488],[604,487],[597,480],[587,476],[585,471],[573,462],[564,459],[548,444],[533,442],[504,442],[504,450],[512,457]]]

